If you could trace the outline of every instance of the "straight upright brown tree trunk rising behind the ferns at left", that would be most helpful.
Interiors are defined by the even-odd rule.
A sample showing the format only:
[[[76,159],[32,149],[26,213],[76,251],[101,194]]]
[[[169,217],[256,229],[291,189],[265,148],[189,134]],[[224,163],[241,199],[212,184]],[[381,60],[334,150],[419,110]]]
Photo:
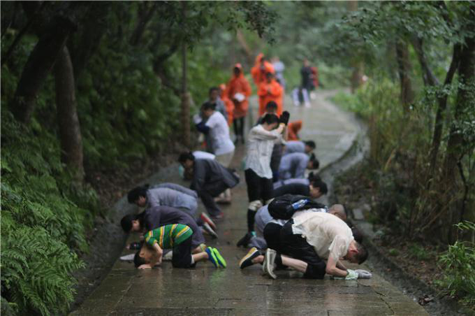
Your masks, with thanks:
[[[61,50],[54,65],[56,108],[61,141],[61,161],[75,175],[78,182],[84,178],[82,166],[82,137],[76,109],[74,71],[66,46]]]

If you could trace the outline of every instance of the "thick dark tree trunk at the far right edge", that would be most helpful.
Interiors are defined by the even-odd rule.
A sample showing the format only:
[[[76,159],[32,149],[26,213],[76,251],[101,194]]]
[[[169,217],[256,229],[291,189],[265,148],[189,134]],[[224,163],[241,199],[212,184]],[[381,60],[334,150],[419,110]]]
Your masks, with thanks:
[[[470,6],[472,19],[475,20],[475,5]],[[465,38],[465,46],[460,52],[460,63],[458,66],[459,88],[457,102],[453,113],[453,123],[448,136],[447,152],[444,161],[444,181],[446,192],[451,200],[448,208],[448,224],[456,224],[460,220],[460,210],[458,208],[459,199],[453,199],[459,194],[456,183],[458,163],[467,150],[464,148],[465,141],[460,132],[460,122],[463,120],[465,110],[471,110],[475,104],[475,36]],[[459,126],[458,126],[459,125]],[[452,228],[452,227],[451,227]],[[453,241],[455,235],[453,229],[449,232],[449,240]]]

